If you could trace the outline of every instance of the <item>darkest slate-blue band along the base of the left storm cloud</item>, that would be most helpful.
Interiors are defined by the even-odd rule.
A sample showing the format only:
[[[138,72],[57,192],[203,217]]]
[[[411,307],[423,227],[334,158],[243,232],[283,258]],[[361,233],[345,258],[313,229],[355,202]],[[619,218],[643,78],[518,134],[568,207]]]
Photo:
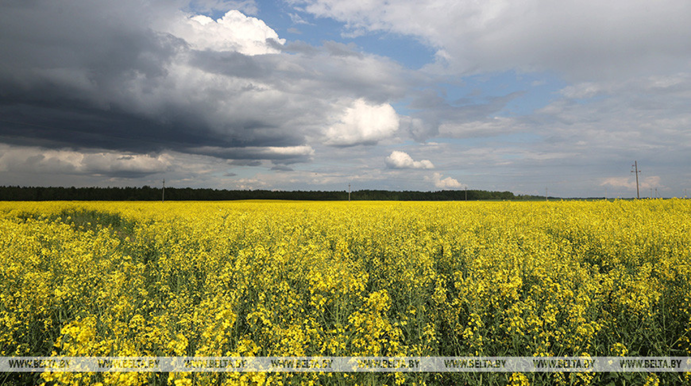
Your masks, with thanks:
[[[171,122],[147,119],[122,110],[100,110],[84,104],[0,104],[0,140],[19,145],[53,148],[104,148],[135,153],[165,150],[187,152],[193,146],[292,146],[301,138],[275,135],[276,128],[262,122],[231,122],[229,135],[200,127],[189,117]],[[175,119],[177,118],[177,119]],[[229,125],[230,125],[229,124]],[[193,153],[193,152],[191,152]]]

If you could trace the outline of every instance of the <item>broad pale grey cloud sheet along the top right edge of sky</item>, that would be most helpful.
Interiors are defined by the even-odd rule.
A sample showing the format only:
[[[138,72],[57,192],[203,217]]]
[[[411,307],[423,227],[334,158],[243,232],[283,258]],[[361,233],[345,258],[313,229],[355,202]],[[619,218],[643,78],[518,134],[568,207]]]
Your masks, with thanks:
[[[556,70],[606,79],[686,70],[691,4],[685,0],[294,0],[345,33],[395,32],[436,48],[437,70]]]

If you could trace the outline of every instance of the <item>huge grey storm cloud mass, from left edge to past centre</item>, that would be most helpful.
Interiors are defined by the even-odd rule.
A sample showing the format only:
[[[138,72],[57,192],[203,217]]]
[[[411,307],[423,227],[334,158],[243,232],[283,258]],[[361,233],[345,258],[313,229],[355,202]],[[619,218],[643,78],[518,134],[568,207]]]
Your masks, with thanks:
[[[195,47],[166,32],[187,20],[176,6],[3,3],[0,141],[303,162],[305,154],[265,148],[319,138],[341,101],[405,93],[400,67],[333,42],[269,55]]]

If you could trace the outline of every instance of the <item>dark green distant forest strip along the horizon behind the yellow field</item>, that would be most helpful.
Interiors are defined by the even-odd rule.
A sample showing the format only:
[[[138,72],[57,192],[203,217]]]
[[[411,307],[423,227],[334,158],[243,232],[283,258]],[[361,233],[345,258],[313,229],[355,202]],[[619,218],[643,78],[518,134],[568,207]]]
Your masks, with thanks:
[[[0,201],[221,201],[221,200],[348,200],[347,191],[229,191],[225,189],[166,188],[64,188],[38,186],[0,186]],[[350,200],[391,201],[463,201],[463,200],[531,200],[537,196],[514,195],[493,191],[378,191],[350,193]],[[541,197],[542,200],[545,197]]]

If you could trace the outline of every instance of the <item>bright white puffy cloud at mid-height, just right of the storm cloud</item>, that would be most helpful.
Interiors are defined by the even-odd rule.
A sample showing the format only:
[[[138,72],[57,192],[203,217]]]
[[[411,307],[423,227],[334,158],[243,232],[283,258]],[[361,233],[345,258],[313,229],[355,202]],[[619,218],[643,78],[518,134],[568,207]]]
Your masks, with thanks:
[[[376,144],[391,137],[399,127],[399,117],[390,104],[372,105],[357,99],[345,108],[339,122],[326,130],[325,144],[354,146]]]

